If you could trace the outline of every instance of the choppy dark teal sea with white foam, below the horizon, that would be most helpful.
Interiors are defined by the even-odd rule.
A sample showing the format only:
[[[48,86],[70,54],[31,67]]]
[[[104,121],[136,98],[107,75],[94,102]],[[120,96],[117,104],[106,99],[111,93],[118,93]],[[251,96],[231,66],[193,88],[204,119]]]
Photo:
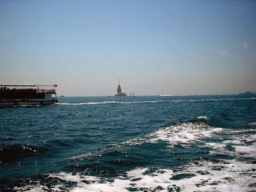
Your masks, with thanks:
[[[256,191],[256,96],[0,108],[0,191]]]

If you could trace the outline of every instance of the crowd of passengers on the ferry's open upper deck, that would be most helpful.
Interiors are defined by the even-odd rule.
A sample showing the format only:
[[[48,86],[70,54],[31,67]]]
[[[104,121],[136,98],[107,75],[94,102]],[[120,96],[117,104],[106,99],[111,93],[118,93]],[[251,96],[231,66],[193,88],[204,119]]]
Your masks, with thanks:
[[[2,86],[0,88],[0,93],[55,93],[55,89],[47,89],[47,90],[44,90],[44,89],[39,89],[39,87],[37,87],[37,89],[32,89],[32,88],[19,88],[19,89],[16,89],[16,88],[12,88],[10,89],[9,87],[6,88],[6,86]]]

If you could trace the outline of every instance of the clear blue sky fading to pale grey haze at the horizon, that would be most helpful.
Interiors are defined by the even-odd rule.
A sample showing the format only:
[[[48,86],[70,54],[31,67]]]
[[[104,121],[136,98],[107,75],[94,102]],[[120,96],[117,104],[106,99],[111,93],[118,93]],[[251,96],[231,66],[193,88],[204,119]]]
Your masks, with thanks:
[[[57,95],[256,92],[256,1],[0,0],[0,84]]]

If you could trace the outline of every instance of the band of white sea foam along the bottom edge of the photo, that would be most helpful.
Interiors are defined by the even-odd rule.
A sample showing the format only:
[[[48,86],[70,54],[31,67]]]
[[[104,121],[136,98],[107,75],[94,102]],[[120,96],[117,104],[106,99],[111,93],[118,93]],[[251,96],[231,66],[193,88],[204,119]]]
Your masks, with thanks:
[[[102,178],[89,176],[88,173],[66,173],[60,172],[49,174],[48,178],[59,181],[57,185],[47,187],[45,181],[36,182],[34,185],[24,187],[16,187],[15,190],[23,191],[44,191],[51,189],[52,191],[81,191],[81,192],[112,192],[125,191],[133,188],[136,191],[229,191],[225,182],[229,172],[233,168],[243,165],[244,162],[236,160],[226,160],[223,163],[214,163],[201,161],[197,164],[191,163],[179,170],[173,169],[158,169],[148,173],[149,167],[137,168],[126,172],[125,175],[120,175],[114,178]],[[252,164],[256,167],[256,164]],[[256,173],[248,170],[244,173],[250,174],[252,179],[248,182],[256,182]],[[232,182],[232,191],[246,191],[246,185],[239,188],[238,179],[243,176],[241,174]],[[111,180],[111,181],[110,181]],[[67,182],[76,183],[73,187],[66,186]]]

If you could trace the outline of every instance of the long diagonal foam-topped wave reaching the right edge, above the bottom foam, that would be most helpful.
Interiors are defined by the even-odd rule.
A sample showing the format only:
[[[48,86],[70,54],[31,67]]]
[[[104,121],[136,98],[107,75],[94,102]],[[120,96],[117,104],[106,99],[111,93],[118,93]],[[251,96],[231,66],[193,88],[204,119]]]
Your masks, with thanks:
[[[243,157],[242,150],[248,157],[253,157],[256,154],[256,134],[254,129],[230,129],[223,127],[211,126],[212,119],[207,116],[199,116],[193,118],[187,122],[176,123],[171,126],[162,127],[158,130],[148,133],[144,136],[139,136],[121,142],[119,144],[112,144],[105,148],[101,148],[100,151],[95,153],[89,152],[79,156],[72,156],[70,159],[77,159],[87,156],[98,156],[105,153],[106,151],[112,151],[113,149],[123,148],[124,146],[135,146],[143,145],[145,143],[159,143],[160,141],[165,142],[167,148],[176,148],[177,145],[181,145],[183,148],[191,148],[192,145],[199,147],[208,147],[210,154],[223,154],[228,156],[234,156],[235,152],[241,152],[237,156]],[[230,133],[234,133],[230,136]],[[248,134],[248,132],[251,132]],[[226,140],[219,143],[205,142],[205,139],[216,140],[221,135],[226,136]],[[254,144],[252,142],[254,141]],[[251,143],[250,143],[251,142]],[[243,147],[247,146],[248,150]],[[233,148],[228,150],[227,146]],[[256,157],[256,156],[255,156]]]

